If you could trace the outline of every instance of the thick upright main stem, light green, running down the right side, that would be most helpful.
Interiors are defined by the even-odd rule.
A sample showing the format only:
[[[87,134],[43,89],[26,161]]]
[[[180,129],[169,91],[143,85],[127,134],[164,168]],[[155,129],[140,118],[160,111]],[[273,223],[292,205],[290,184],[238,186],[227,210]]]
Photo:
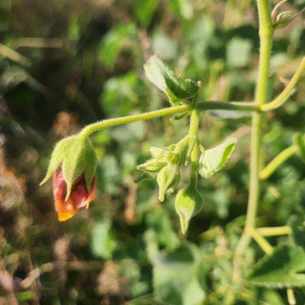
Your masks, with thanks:
[[[267,85],[273,29],[269,1],[257,0],[257,7],[259,16],[260,54],[255,102],[257,105],[262,106],[267,102]],[[251,239],[249,232],[255,227],[257,204],[260,194],[258,175],[261,154],[262,120],[262,113],[255,112],[252,114],[249,199],[245,230],[236,247],[236,253],[239,255],[247,248]]]

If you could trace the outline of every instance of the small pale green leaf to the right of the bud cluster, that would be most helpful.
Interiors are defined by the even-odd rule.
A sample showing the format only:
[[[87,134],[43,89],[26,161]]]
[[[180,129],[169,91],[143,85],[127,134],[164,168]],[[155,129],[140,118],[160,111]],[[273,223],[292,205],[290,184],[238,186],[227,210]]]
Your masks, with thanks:
[[[222,144],[205,150],[199,159],[199,174],[208,178],[219,171],[231,157],[236,142],[236,138],[229,138]]]

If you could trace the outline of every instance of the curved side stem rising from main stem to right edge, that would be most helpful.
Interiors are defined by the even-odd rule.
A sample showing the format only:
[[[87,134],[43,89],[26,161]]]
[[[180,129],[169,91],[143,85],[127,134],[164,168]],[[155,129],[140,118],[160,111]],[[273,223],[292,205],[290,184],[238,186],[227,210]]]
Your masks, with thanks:
[[[305,57],[303,57],[298,69],[294,73],[293,77],[291,78],[291,80],[289,81],[283,92],[270,103],[262,105],[261,110],[263,111],[272,110],[283,105],[294,93],[294,86],[296,85],[298,79],[300,78],[304,70],[305,70]]]

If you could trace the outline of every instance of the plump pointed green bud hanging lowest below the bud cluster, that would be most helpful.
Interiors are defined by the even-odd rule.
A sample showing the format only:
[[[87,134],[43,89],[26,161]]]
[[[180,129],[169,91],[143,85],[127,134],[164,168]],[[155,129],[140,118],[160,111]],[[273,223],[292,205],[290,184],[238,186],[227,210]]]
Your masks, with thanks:
[[[202,206],[203,199],[195,186],[188,186],[177,193],[175,208],[183,234],[187,232],[191,218],[201,211]]]

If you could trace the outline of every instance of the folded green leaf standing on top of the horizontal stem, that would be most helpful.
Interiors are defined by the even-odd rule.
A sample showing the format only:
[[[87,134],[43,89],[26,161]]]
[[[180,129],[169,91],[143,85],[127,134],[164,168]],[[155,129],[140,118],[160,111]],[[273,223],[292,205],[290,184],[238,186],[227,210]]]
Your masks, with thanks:
[[[173,105],[177,105],[181,100],[189,99],[198,93],[198,83],[175,75],[155,55],[149,58],[144,65],[144,70],[146,77],[167,94]]]

